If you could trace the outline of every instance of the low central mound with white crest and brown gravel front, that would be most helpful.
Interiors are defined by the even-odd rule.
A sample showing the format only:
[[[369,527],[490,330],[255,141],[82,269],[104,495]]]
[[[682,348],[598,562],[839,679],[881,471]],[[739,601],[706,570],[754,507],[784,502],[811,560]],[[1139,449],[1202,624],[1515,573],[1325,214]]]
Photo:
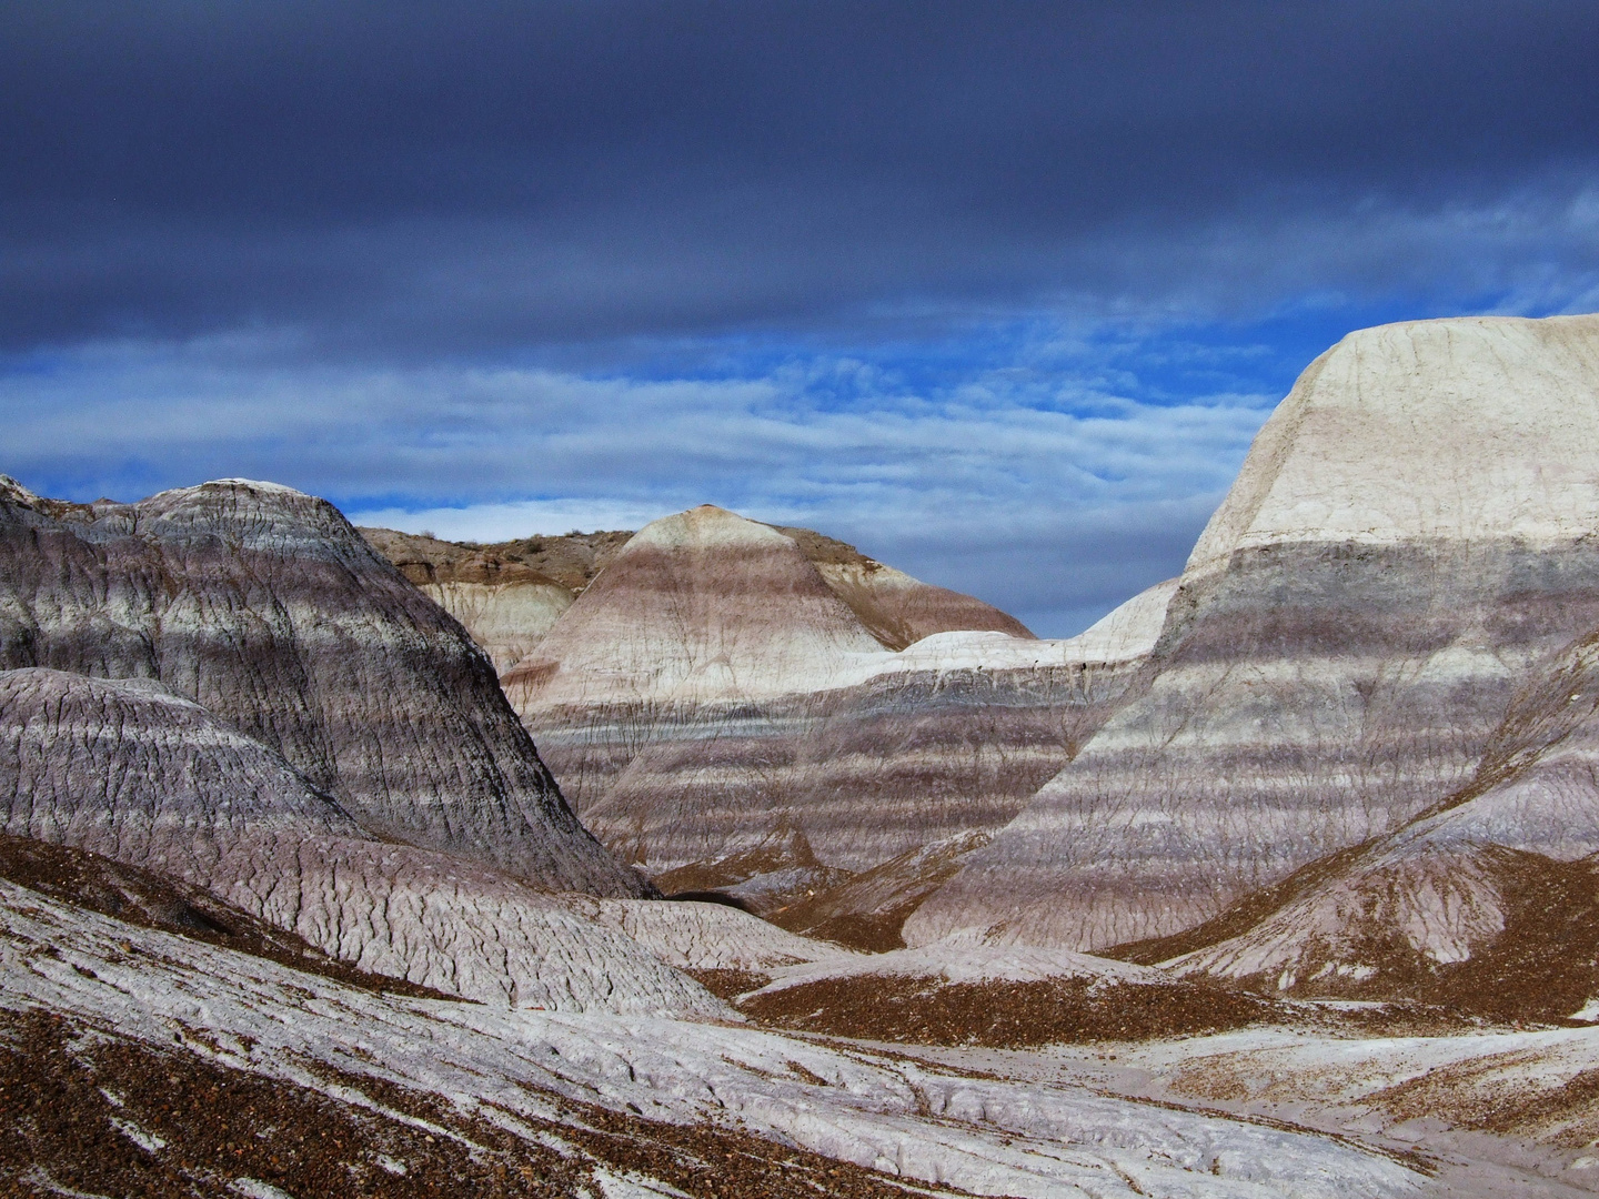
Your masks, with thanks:
[[[1254,996],[1196,986],[1146,966],[971,935],[915,950],[772,970],[739,1010],[780,1028],[924,1046],[1020,1049],[1143,1041],[1271,1017]]]

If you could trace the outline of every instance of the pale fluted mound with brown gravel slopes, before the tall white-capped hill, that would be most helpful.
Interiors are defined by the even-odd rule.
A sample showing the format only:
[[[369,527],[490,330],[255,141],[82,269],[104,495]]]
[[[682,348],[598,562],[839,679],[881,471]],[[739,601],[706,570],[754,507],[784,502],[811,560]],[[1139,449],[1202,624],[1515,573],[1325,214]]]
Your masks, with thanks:
[[[1599,996],[1599,635],[1517,694],[1460,793],[1134,954],[1290,994],[1585,1007]]]

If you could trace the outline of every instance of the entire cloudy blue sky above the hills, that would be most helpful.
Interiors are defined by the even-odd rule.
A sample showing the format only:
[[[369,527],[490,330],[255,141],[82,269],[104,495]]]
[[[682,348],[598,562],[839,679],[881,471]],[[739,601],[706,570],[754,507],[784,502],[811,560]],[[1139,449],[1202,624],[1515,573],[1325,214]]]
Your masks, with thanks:
[[[1065,636],[1345,333],[1599,309],[1599,5],[0,0],[0,472],[713,502]]]

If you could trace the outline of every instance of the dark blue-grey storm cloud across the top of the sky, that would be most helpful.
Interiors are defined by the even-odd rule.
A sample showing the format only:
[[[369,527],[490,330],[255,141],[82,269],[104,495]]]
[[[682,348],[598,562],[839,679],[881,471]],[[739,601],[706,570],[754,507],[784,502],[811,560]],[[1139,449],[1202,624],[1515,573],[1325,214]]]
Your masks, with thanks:
[[[1517,283],[1529,246],[1599,259],[1567,237],[1599,157],[1593,3],[53,0],[3,24],[13,349],[1268,305],[1463,270],[1460,211],[1527,227],[1498,230],[1503,272],[1469,241],[1457,288]],[[1407,219],[1444,232],[1366,240]]]

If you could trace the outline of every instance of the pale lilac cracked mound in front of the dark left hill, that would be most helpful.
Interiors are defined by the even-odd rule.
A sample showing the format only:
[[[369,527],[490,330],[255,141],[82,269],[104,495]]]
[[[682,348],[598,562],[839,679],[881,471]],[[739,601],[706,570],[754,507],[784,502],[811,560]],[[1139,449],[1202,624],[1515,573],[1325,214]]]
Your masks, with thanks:
[[[0,673],[0,831],[158,871],[331,958],[469,999],[720,1010],[569,900],[371,838],[281,756],[152,681]]]

